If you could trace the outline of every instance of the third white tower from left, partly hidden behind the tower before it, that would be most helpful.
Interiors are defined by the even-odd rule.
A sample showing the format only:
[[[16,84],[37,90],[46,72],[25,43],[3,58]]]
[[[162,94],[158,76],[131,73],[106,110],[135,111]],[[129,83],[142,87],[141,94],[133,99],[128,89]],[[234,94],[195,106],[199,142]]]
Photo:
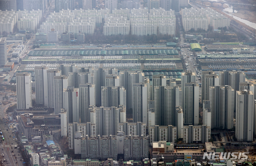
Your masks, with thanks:
[[[54,76],[60,76],[61,75],[61,70],[58,69],[53,69],[53,70],[47,70],[47,94],[48,94],[48,107],[54,108]]]

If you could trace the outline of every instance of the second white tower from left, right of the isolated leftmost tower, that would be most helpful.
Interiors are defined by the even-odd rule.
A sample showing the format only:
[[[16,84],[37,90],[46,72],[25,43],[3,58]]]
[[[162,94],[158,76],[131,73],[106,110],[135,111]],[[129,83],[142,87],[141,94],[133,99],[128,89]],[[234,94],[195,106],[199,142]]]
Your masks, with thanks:
[[[35,67],[36,103],[48,107],[48,67]]]

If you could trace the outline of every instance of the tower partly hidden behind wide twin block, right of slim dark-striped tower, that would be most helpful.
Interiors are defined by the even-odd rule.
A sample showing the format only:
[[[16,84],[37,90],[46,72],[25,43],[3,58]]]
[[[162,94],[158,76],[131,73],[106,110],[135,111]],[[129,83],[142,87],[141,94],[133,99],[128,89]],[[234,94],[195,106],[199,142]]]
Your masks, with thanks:
[[[209,100],[209,88],[210,86],[219,86],[219,77],[217,74],[206,74],[207,72],[202,72],[204,80],[202,80],[202,100]]]

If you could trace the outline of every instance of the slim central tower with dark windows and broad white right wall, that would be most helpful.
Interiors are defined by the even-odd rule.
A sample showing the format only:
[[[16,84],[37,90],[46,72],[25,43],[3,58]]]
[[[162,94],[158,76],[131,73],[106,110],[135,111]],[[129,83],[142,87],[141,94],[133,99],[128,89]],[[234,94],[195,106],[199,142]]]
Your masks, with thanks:
[[[143,83],[132,85],[133,122],[148,125],[148,87]]]

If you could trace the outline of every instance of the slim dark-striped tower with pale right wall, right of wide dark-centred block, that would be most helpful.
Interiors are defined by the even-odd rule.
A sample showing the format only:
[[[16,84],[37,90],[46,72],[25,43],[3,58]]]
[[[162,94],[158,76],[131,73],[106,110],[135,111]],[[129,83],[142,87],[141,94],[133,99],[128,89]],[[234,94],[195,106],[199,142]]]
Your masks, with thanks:
[[[199,123],[199,86],[196,83],[185,83],[183,101],[184,125]]]

